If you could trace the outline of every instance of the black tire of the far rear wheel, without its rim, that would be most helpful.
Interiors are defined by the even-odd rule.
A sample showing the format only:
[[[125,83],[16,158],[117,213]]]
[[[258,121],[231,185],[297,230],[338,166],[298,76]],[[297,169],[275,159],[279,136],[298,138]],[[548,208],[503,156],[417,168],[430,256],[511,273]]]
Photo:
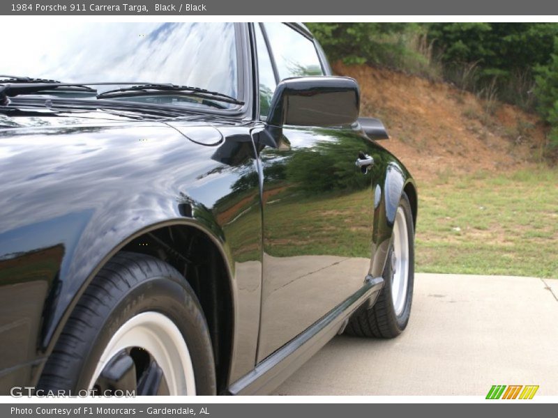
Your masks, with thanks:
[[[390,248],[386,266],[382,277],[384,277],[384,287],[379,292],[376,303],[370,309],[360,311],[351,318],[345,332],[354,336],[365,336],[375,338],[395,338],[405,330],[409,323],[411,305],[413,301],[414,284],[414,224],[409,198],[405,192],[402,194],[399,206],[405,213],[407,224],[407,237],[409,240],[409,274],[407,278],[407,295],[405,306],[399,315],[395,314],[393,307],[392,291],[392,263],[393,247]]]

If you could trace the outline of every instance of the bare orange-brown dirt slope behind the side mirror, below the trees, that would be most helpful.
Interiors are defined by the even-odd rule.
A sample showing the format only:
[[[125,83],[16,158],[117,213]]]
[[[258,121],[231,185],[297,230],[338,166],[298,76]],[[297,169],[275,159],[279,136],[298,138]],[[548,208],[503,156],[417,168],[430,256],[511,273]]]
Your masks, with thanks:
[[[393,151],[421,182],[475,171],[525,169],[538,161],[543,127],[517,107],[401,72],[336,63],[361,86],[361,115],[381,118]]]

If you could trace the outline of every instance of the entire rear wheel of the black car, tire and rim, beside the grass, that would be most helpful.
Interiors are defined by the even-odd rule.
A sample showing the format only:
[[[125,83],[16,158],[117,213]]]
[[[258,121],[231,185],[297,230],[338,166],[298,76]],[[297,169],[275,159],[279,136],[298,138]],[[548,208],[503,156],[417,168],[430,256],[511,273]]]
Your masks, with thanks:
[[[354,316],[345,330],[347,334],[394,338],[409,323],[414,284],[414,224],[405,192],[395,212],[391,247],[382,277],[384,287],[374,307]]]

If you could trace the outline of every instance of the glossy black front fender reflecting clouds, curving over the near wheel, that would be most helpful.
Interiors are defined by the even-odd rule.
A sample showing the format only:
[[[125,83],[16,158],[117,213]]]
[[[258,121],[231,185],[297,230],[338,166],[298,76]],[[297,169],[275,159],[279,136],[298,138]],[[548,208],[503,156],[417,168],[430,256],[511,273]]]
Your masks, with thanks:
[[[182,119],[172,127],[135,121],[77,125],[80,121],[68,117],[68,125],[60,127],[33,118],[40,127],[0,131],[2,150],[10,155],[0,162],[0,293],[13,292],[15,284],[43,289],[4,305],[12,315],[0,318],[2,325],[22,318],[28,304],[42,307],[49,298],[43,332],[29,327],[24,332],[28,346],[38,350],[27,357],[16,350],[19,357],[6,356],[6,366],[49,353],[68,309],[98,268],[126,242],[162,224],[195,226],[218,243],[235,295],[259,287],[259,225],[255,234],[235,238],[243,217],[255,212],[259,219],[257,184],[242,191],[240,203],[229,203],[238,195],[234,184],[256,173],[249,124],[211,117],[201,123]],[[190,210],[181,209],[184,204]],[[244,251],[250,246],[255,248]],[[235,261],[240,254],[244,264]],[[250,262],[255,265],[246,268]],[[257,302],[259,295],[239,304],[236,314]],[[253,341],[239,340],[239,349],[249,353],[243,345],[255,347],[256,339],[257,331]]]

